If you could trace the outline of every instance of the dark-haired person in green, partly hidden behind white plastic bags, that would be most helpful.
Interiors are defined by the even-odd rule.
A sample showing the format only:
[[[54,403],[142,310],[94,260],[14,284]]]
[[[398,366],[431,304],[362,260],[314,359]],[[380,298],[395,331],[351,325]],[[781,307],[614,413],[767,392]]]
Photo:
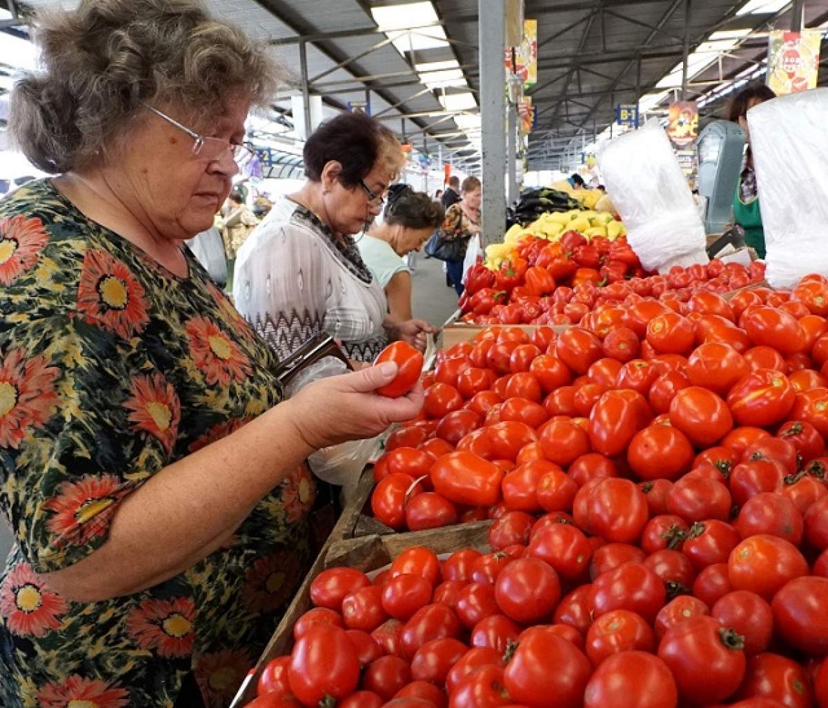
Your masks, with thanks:
[[[765,232],[762,227],[762,213],[759,211],[759,195],[756,187],[756,172],[753,170],[753,154],[750,151],[748,111],[759,103],[776,98],[765,84],[755,84],[737,93],[728,108],[728,120],[739,123],[744,130],[745,151],[739,184],[733,199],[733,216],[736,226],[744,232],[744,242],[756,251],[759,258],[765,257]]]

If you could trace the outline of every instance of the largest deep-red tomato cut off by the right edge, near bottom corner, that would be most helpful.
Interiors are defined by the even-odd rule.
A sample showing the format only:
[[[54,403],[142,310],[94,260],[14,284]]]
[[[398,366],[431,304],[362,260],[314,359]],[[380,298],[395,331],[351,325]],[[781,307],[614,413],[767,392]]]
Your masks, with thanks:
[[[787,582],[773,597],[773,619],[787,643],[803,652],[828,653],[828,578],[805,576]]]

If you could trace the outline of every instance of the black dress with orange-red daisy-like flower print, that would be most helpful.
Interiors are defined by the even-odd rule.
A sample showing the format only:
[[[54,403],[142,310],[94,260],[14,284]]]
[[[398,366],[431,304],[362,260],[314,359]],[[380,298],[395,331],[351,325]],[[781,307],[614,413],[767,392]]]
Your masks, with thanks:
[[[49,181],[0,202],[3,708],[172,706],[190,672],[224,708],[310,565],[302,466],[231,543],[147,591],[80,603],[39,575],[99,548],[156,471],[279,401],[269,348],[187,257],[172,275]]]

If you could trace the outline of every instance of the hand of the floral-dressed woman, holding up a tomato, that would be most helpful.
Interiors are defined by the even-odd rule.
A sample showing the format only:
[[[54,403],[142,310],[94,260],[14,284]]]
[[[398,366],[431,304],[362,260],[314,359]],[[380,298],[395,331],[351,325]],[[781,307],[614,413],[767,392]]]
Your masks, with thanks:
[[[291,407],[291,419],[301,438],[315,450],[348,440],[373,438],[392,423],[410,420],[422,408],[422,385],[397,399],[375,390],[397,376],[389,361],[342,376],[315,381],[281,404]]]

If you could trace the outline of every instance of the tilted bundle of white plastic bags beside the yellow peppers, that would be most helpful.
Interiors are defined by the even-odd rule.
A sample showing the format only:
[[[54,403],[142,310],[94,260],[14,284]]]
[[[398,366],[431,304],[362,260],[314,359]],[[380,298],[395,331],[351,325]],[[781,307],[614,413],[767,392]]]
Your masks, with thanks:
[[[661,125],[648,121],[599,152],[604,184],[647,270],[708,261],[705,227]]]

